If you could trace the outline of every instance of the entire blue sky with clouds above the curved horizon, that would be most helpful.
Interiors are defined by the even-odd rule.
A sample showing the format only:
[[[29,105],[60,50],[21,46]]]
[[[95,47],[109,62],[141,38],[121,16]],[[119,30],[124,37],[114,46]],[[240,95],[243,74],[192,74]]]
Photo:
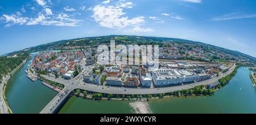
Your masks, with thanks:
[[[256,57],[254,0],[1,0],[0,55],[102,35],[201,41]]]

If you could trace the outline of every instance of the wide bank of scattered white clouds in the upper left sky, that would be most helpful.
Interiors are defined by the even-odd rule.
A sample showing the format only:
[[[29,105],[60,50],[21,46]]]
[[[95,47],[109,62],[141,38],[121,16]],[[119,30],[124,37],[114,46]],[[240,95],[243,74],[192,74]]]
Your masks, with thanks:
[[[7,15],[3,14],[0,16],[0,23],[6,23],[5,27],[10,27],[13,25],[43,25],[43,26],[80,26],[83,20],[75,19],[75,15],[68,15],[64,12],[54,12],[51,10],[47,3],[53,4],[50,0],[34,0],[38,5],[42,7],[30,7],[30,9],[38,11],[36,15],[31,15],[30,17],[23,16],[21,12],[25,12],[24,6],[21,12],[17,11],[14,14]],[[27,5],[27,7],[30,5]],[[66,9],[69,9],[67,6]],[[73,9],[69,9],[72,10]],[[75,10],[75,9],[74,9]]]

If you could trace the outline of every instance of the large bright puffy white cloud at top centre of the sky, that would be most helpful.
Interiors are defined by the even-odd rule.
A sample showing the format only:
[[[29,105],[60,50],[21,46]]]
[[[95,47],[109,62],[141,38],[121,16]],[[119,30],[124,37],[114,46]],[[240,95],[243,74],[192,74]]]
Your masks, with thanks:
[[[129,19],[124,16],[126,13],[123,9],[131,8],[131,2],[119,2],[116,5],[103,6],[97,5],[93,8],[93,18],[102,27],[108,28],[125,28],[127,26],[138,26],[144,23],[144,16]]]

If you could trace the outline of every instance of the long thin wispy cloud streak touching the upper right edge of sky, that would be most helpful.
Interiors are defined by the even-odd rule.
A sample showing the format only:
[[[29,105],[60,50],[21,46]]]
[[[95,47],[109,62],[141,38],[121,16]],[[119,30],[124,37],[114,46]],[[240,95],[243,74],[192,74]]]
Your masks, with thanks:
[[[212,18],[213,21],[225,21],[233,19],[246,19],[246,18],[256,18],[256,14],[238,14],[233,12],[231,14],[222,15],[220,17]]]

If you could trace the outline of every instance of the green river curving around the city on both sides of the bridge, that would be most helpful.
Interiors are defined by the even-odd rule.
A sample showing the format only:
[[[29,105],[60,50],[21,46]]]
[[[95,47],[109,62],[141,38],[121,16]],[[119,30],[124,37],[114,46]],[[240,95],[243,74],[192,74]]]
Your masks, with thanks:
[[[57,94],[32,82],[24,70],[30,61],[17,70],[8,81],[6,98],[13,113],[39,113]],[[256,113],[256,89],[250,70],[239,68],[236,76],[213,96],[164,98],[148,102],[93,101],[73,96],[59,113]]]

